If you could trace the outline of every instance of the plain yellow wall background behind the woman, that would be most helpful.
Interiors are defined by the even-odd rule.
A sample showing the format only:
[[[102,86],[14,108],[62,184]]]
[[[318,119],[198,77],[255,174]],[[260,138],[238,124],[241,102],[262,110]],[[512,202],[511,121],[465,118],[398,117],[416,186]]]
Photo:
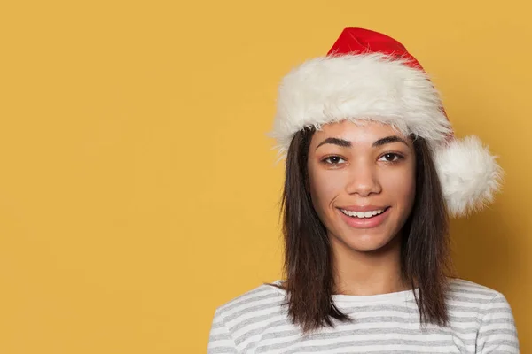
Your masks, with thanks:
[[[403,42],[457,135],[500,156],[504,193],[453,221],[455,262],[531,352],[526,3],[5,1],[0,352],[205,352],[215,307],[280,276],[278,81],[343,27]]]

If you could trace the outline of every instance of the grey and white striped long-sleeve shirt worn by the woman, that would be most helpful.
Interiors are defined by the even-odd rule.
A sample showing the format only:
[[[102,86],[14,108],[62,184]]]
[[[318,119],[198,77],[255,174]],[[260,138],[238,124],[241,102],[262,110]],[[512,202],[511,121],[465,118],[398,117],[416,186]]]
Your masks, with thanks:
[[[332,319],[334,328],[303,337],[281,306],[285,296],[284,289],[262,284],[217,307],[207,353],[519,353],[505,296],[472,281],[450,279],[447,327],[420,327],[411,290],[339,294],[332,300],[354,320]]]

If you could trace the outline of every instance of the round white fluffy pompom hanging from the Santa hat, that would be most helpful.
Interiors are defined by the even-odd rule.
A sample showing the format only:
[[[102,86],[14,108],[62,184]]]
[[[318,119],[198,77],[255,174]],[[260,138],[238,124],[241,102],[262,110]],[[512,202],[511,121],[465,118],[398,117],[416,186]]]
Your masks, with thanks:
[[[482,209],[500,189],[503,170],[477,136],[443,144],[434,152],[434,164],[452,217]]]

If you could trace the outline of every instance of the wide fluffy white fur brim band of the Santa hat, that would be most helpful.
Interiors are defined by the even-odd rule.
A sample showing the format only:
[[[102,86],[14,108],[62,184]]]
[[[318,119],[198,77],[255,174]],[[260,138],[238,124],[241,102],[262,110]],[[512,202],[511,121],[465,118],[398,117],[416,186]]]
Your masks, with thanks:
[[[452,135],[440,96],[422,70],[383,53],[310,59],[286,74],[268,136],[286,157],[293,135],[342,119],[376,120],[435,148]]]

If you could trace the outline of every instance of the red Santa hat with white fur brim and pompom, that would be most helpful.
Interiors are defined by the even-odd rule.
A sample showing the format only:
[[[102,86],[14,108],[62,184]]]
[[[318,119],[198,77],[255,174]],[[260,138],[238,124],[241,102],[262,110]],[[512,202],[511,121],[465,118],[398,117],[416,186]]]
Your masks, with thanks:
[[[379,121],[426,139],[451,216],[480,210],[500,188],[495,157],[474,135],[455,138],[428,75],[387,35],[345,28],[325,57],[286,74],[269,135],[285,158],[295,133],[343,119]]]

